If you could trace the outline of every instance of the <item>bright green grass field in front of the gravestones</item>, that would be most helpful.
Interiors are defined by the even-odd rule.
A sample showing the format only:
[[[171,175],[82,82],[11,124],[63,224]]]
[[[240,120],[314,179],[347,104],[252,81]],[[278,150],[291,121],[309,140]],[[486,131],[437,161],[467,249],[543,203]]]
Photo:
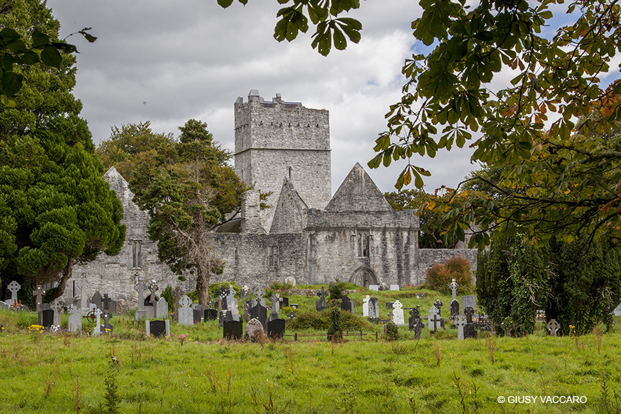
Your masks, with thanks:
[[[395,294],[380,293],[380,303]],[[400,300],[425,309],[436,297]],[[457,341],[449,328],[415,341],[402,327],[397,342],[244,343],[221,340],[217,322],[172,322],[166,339],[145,338],[129,319],[92,338],[29,331],[34,322],[34,313],[0,311],[0,413],[621,412],[618,332]],[[537,401],[498,402],[526,396]],[[566,396],[583,402],[541,401]]]

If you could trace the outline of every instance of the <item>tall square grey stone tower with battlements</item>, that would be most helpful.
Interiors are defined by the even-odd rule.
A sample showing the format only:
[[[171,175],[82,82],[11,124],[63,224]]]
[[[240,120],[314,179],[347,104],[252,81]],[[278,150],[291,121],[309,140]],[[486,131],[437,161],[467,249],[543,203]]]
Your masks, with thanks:
[[[271,102],[250,90],[248,102],[235,101],[235,172],[248,185],[272,195],[275,206],[284,179],[295,182],[308,208],[323,209],[331,199],[330,126],[328,111]],[[262,212],[269,231],[274,208]]]

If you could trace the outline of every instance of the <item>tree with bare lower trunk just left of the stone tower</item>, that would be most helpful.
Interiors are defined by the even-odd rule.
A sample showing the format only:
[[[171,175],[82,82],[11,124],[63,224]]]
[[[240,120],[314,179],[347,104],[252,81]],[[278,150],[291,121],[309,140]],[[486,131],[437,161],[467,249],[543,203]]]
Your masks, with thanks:
[[[145,132],[145,128],[148,123],[122,129]],[[221,273],[223,264],[210,252],[205,236],[226,213],[239,206],[246,186],[226,164],[230,153],[213,141],[207,124],[190,119],[179,130],[178,141],[148,130],[146,135],[157,139],[147,140],[133,156],[124,154],[135,163],[130,190],[134,201],[150,215],[148,234],[157,242],[159,258],[177,273],[194,269],[199,303],[206,304],[210,276]],[[99,148],[118,143],[115,129],[112,132],[112,144],[103,143]],[[158,143],[157,149],[149,148]],[[145,155],[150,162],[139,163]]]

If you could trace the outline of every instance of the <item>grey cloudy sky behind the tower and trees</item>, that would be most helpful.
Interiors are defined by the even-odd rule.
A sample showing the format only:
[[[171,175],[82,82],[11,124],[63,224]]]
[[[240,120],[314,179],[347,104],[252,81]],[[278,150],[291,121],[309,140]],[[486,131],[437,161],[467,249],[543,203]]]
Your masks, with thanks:
[[[110,126],[150,121],[173,132],[188,119],[208,124],[233,150],[233,103],[258,89],[266,100],[282,94],[308,108],[330,111],[332,185],[373,155],[384,114],[400,99],[400,70],[418,45],[410,23],[420,15],[414,0],[364,1],[352,17],[363,23],[362,41],[322,57],[310,34],[293,43],[273,39],[277,1],[250,0],[224,10],[216,0],[48,0],[61,37],[81,28],[98,39],[71,37],[79,50],[75,95],[83,103],[95,143]],[[310,32],[310,29],[309,29]],[[469,150],[415,159],[431,170],[426,190],[455,186],[473,168]],[[382,191],[394,190],[404,168],[368,170]]]

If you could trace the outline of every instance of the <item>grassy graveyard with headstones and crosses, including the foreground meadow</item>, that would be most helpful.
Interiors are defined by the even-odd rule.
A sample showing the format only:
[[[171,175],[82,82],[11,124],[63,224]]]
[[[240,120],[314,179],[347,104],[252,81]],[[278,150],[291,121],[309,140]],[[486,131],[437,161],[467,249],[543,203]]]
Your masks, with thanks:
[[[451,295],[432,290],[353,285],[338,301],[328,296],[329,286],[271,295],[222,286],[220,300],[208,306],[182,295],[177,310],[163,315],[157,305],[147,309],[148,286],[138,287],[146,304],[127,315],[119,309],[110,315],[113,301],[106,295],[99,305],[86,304],[83,315],[71,312],[73,306],[50,314],[46,328],[39,324],[45,311],[0,310],[0,412],[591,413],[621,407],[618,329],[553,337],[554,326],[538,322],[533,335],[509,337],[480,323],[469,334],[475,297],[462,297],[457,306]],[[248,304],[247,297],[254,299]],[[280,306],[284,302],[288,306]],[[471,308],[466,313],[464,304]],[[461,311],[451,321],[454,306]],[[311,326],[319,315],[329,320],[333,308],[341,315],[341,341]],[[394,341],[384,334],[389,319],[399,332]],[[274,325],[277,331],[275,321],[283,321]],[[70,332],[70,324],[80,329]],[[524,403],[523,396],[539,400]],[[553,404],[546,397],[576,400]]]

